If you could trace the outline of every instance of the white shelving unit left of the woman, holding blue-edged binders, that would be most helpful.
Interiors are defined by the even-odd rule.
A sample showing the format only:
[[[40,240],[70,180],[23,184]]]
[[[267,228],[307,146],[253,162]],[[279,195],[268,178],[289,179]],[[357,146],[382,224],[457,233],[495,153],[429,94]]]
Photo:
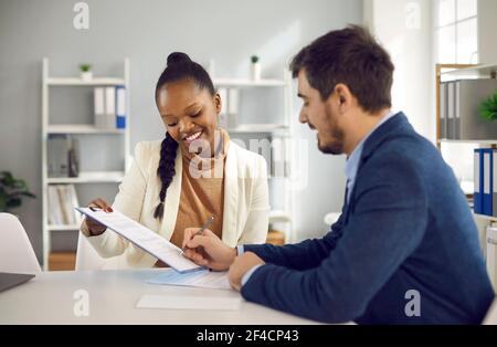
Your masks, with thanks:
[[[42,218],[43,218],[43,267],[47,270],[49,266],[49,255],[52,250],[52,234],[54,232],[63,233],[70,231],[77,231],[80,229],[78,224],[53,224],[49,223],[49,187],[53,185],[75,185],[78,192],[83,190],[93,189],[93,191],[98,192],[102,185],[113,185],[113,190],[117,191],[117,183],[119,183],[124,177],[126,169],[129,166],[129,134],[130,134],[130,115],[129,115],[129,74],[130,66],[129,60],[125,59],[123,63],[123,76],[121,77],[94,77],[89,81],[83,81],[80,77],[54,77],[49,73],[49,59],[43,59],[42,69],[42,134],[41,134],[41,155],[42,155]],[[93,120],[93,104],[88,105],[87,109],[92,111],[91,117],[87,117],[83,122],[75,122],[74,119],[64,123],[64,117],[68,116],[67,113],[61,112],[61,109],[54,111],[51,103],[56,97],[57,93],[54,92],[55,88],[59,91],[71,90],[71,93],[83,93],[86,91],[88,93],[93,87],[116,87],[124,86],[126,88],[126,126],[125,128],[108,128],[103,129],[95,126],[94,122],[88,122],[89,118]],[[87,101],[89,102],[89,99]],[[71,102],[68,102],[71,103]],[[71,105],[71,104],[70,104]],[[77,107],[77,103],[74,107]],[[54,124],[53,116],[57,113],[57,122]],[[61,123],[62,119],[62,123]],[[49,176],[49,138],[54,135],[65,135],[73,138],[82,139],[81,143],[88,144],[92,143],[94,138],[98,138],[104,141],[104,146],[99,150],[108,150],[106,144],[115,141],[118,147],[118,153],[113,153],[112,157],[119,157],[117,160],[118,167],[114,167],[112,170],[97,169],[87,171],[80,171],[77,177],[51,177]],[[84,141],[83,141],[84,139]],[[89,158],[88,166],[92,164],[92,154],[87,146],[80,146],[78,151]],[[104,160],[105,161],[105,160]],[[120,164],[119,164],[120,162]],[[104,162],[105,164],[105,162]],[[95,186],[92,188],[92,186]],[[93,194],[93,192],[92,192]],[[87,201],[81,201],[80,204],[86,204]],[[75,252],[75,249],[74,249]]]

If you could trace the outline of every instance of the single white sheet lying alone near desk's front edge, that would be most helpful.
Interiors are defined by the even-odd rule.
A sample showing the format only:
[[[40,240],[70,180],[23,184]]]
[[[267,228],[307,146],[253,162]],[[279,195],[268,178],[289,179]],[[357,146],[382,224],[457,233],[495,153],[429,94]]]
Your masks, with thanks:
[[[192,295],[142,295],[136,305],[137,308],[166,308],[166,309],[209,309],[235,311],[240,309],[240,296],[192,296]]]

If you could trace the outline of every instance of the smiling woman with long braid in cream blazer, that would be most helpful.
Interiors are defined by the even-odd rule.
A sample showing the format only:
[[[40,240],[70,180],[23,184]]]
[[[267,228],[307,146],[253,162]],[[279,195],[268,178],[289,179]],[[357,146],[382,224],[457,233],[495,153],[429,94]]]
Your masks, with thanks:
[[[156,86],[165,139],[139,143],[112,208],[181,246],[186,228],[209,227],[230,245],[263,243],[268,227],[268,188],[263,157],[241,148],[218,127],[221,98],[209,74],[184,53],[171,53]],[[163,265],[95,220],[81,231],[106,267]],[[115,257],[118,256],[118,257]]]

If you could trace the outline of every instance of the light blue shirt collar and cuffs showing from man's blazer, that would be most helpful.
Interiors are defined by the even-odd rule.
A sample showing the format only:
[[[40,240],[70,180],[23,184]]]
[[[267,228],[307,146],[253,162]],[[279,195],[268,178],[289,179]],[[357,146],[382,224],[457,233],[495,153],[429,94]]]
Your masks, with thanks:
[[[394,115],[396,115],[396,113],[394,112],[390,112],[387,116],[384,116],[376,126],[374,128],[371,129],[371,132],[368,133],[368,135],[364,136],[364,138],[359,143],[359,145],[356,146],[356,148],[353,149],[352,154],[349,156],[349,158],[347,159],[347,165],[346,165],[346,176],[347,176],[347,202],[349,202],[350,199],[350,192],[353,189],[353,183],[356,182],[356,176],[357,176],[357,170],[359,169],[359,161],[361,159],[361,155],[362,155],[362,148],[364,147],[364,143],[366,140],[371,136],[371,134],[374,133],[376,129],[378,129],[383,123],[385,123],[387,120],[389,120],[390,118],[392,118]],[[239,255],[242,255],[245,250],[243,248],[243,245],[237,245],[236,246]],[[245,285],[245,283],[250,280],[250,277],[252,276],[252,274],[263,265],[255,265],[254,267],[252,267],[251,270],[248,270],[242,277],[242,286]]]

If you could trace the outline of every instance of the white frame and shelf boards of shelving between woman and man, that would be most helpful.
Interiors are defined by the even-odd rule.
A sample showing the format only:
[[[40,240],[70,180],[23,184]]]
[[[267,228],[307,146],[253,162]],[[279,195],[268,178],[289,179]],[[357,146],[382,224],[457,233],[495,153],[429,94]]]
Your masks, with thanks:
[[[236,127],[228,128],[228,132],[231,135],[236,134],[257,134],[269,137],[271,139],[281,139],[284,146],[287,146],[287,140],[293,135],[292,129],[292,97],[293,97],[293,84],[292,84],[292,75],[284,71],[284,78],[282,80],[244,80],[244,78],[213,78],[214,86],[216,88],[228,88],[228,90],[244,90],[244,88],[281,88],[283,91],[283,95],[281,102],[283,103],[283,123],[271,123],[271,124],[237,124]],[[285,161],[287,161],[288,167],[292,170],[290,156],[286,153]],[[271,162],[269,166],[273,164]],[[286,242],[295,242],[295,232],[294,232],[294,219],[293,219],[293,200],[294,193],[292,188],[292,179],[290,177],[284,177],[283,187],[281,187],[281,191],[278,194],[283,198],[283,208],[282,209],[273,209],[269,212],[269,223],[283,223],[286,225],[285,228],[285,241]]]

